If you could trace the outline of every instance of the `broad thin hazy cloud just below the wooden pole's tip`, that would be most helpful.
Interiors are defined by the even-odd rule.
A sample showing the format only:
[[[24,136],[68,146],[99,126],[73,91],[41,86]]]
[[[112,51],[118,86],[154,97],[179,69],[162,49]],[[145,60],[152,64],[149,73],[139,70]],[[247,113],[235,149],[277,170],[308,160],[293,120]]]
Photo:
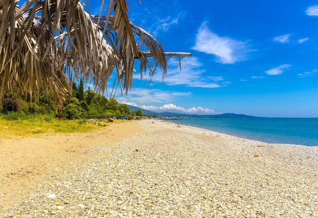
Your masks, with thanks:
[[[224,87],[229,82],[225,82],[222,76],[204,76],[204,69],[200,69],[202,64],[196,57],[184,58],[181,61],[181,71],[176,67],[179,61],[177,59],[170,59],[168,61],[167,76],[164,83],[167,85],[186,85],[189,87],[201,88],[218,88]],[[136,74],[135,78],[140,78]],[[161,82],[162,75],[156,73],[151,80],[152,82]]]

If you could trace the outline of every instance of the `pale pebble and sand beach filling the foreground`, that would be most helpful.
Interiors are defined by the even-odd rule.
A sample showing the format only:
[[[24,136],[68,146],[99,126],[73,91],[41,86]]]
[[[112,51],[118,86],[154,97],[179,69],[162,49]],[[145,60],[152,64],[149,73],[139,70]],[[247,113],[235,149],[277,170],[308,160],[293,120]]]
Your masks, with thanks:
[[[63,144],[42,154],[48,168],[20,186],[8,167],[20,156],[28,163],[32,152],[2,160],[0,217],[318,217],[317,147],[150,120],[115,128],[42,139]],[[62,158],[69,141],[73,152]]]

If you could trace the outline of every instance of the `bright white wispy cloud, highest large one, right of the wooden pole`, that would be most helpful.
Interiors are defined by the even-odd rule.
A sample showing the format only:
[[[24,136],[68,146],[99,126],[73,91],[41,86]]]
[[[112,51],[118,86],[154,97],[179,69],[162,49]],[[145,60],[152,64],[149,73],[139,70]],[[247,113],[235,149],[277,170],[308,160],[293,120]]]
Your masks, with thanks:
[[[217,56],[216,61],[222,64],[234,64],[247,59],[248,49],[246,42],[230,37],[220,37],[210,31],[204,22],[199,28],[195,45],[192,49]]]

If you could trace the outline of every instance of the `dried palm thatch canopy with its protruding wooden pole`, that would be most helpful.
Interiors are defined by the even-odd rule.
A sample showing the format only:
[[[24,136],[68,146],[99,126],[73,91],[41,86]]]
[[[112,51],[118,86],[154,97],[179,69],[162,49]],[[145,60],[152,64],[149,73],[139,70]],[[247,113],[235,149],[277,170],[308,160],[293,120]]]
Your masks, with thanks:
[[[0,89],[33,95],[40,88],[54,94],[62,106],[72,83],[92,81],[95,91],[104,92],[113,71],[127,94],[132,87],[135,59],[140,73],[157,69],[166,75],[162,45],[147,31],[132,24],[125,0],[110,0],[107,14],[90,14],[79,0],[0,0]],[[86,7],[86,10],[84,9]],[[135,41],[138,37],[138,42]]]

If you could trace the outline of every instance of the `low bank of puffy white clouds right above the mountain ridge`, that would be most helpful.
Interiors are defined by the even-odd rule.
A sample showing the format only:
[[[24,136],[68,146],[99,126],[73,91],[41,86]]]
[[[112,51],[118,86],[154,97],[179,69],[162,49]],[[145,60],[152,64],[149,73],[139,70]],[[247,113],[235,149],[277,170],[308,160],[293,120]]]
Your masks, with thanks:
[[[214,110],[210,108],[203,108],[203,107],[190,107],[190,108],[184,108],[181,106],[176,106],[174,104],[166,104],[163,106],[146,106],[146,105],[141,105],[138,106],[134,102],[127,102],[127,101],[122,101],[122,104],[128,104],[132,106],[137,106],[141,107],[143,109],[149,110],[149,111],[155,111],[155,112],[182,112],[182,113],[190,113],[190,114],[218,114],[219,112],[215,112]]]

